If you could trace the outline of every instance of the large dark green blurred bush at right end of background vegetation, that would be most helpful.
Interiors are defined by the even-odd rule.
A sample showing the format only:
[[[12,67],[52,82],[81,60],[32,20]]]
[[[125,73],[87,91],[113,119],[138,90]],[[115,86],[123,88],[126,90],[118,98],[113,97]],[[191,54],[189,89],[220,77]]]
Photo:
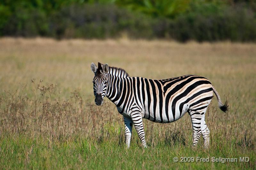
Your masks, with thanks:
[[[253,11],[240,5],[214,8],[212,4],[202,4],[175,18],[169,30],[171,37],[179,41],[256,40]]]

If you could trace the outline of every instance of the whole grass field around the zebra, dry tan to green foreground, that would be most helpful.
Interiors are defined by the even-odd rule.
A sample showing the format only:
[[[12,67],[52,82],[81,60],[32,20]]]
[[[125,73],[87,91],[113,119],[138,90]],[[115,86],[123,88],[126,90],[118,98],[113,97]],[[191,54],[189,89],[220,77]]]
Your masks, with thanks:
[[[126,149],[122,115],[108,99],[94,103],[90,64],[98,61],[130,76],[208,78],[230,107],[221,112],[216,97],[208,107],[210,148],[202,138],[192,148],[187,114],[169,124],[144,120],[148,148],[133,128]],[[0,169],[255,169],[255,72],[256,44],[1,38]]]

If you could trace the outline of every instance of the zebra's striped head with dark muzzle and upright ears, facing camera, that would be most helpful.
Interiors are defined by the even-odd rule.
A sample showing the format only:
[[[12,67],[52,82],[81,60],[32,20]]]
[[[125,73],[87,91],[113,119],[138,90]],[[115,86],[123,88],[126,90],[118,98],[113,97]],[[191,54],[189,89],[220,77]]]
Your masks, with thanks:
[[[93,92],[95,96],[95,103],[101,106],[103,103],[103,98],[107,94],[108,77],[107,73],[109,71],[108,64],[98,63],[98,68],[96,64],[91,64],[91,70],[94,73],[93,78]]]

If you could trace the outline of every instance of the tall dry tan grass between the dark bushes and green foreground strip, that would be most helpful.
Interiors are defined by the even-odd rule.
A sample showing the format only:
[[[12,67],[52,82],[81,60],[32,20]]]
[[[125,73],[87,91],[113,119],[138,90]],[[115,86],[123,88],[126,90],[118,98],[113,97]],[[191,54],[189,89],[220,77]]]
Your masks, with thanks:
[[[131,76],[162,79],[197,74],[208,78],[222,100],[227,98],[230,110],[221,112],[213,98],[206,113],[212,152],[202,152],[251,155],[256,144],[255,47],[230,42],[2,38],[0,136],[39,137],[49,147],[77,138],[93,141],[90,147],[124,146],[123,118],[115,105],[107,99],[102,107],[93,102],[90,64],[100,61],[121,67]],[[192,145],[188,115],[169,124],[143,121],[149,148],[175,146],[178,149],[173,152],[179,153]],[[135,130],[132,144],[140,145]],[[248,167],[255,167],[255,155],[252,160]]]

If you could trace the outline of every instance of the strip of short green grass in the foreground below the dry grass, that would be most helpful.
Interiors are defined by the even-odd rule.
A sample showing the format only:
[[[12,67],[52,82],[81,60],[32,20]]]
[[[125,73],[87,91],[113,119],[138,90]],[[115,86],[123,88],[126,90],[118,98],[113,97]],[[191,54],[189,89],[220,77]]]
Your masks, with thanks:
[[[233,148],[228,144],[217,145],[205,151],[189,145],[158,142],[142,149],[138,140],[133,140],[126,149],[121,136],[103,141],[85,137],[49,142],[42,137],[27,138],[24,135],[1,137],[1,167],[4,169],[180,169],[214,168],[253,169],[255,151]],[[222,140],[221,138],[217,140]],[[121,143],[120,143],[121,142]],[[236,144],[235,144],[236,145]],[[250,162],[241,163],[239,157],[249,157]],[[173,158],[193,157],[192,162],[174,162]],[[209,162],[200,162],[209,158]],[[212,157],[238,158],[238,162],[215,162]],[[186,160],[186,159],[184,159]]]

